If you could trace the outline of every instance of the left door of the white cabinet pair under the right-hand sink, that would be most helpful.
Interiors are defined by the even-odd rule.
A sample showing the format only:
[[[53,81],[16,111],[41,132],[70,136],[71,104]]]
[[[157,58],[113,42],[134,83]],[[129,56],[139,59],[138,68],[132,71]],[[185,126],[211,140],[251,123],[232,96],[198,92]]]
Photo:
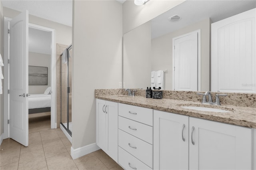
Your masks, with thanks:
[[[188,128],[188,116],[154,110],[155,170],[188,169]]]

